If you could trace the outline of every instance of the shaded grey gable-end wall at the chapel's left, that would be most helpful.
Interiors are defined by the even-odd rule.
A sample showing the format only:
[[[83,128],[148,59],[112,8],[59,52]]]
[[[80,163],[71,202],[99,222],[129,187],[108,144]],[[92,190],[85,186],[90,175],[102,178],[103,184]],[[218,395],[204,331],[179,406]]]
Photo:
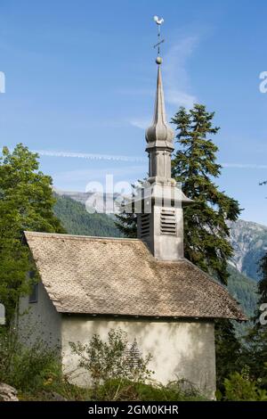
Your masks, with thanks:
[[[32,344],[42,340],[50,348],[61,349],[61,314],[38,283],[37,302],[28,302],[28,296],[20,299],[19,333],[21,341]]]

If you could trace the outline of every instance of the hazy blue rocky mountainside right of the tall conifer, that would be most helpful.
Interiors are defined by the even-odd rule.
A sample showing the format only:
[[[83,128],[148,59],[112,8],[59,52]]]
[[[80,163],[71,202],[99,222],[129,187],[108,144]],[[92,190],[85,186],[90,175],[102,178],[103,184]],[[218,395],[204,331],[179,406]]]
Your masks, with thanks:
[[[229,226],[234,249],[231,265],[257,281],[258,262],[267,251],[267,226],[242,219],[229,223]]]

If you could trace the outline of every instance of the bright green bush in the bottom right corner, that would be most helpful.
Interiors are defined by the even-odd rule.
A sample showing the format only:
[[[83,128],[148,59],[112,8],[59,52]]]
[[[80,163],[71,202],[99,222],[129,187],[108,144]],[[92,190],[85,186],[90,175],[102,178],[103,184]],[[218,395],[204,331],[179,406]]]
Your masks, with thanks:
[[[267,391],[259,388],[258,382],[250,379],[249,369],[233,373],[224,380],[224,399],[229,401],[267,401]]]

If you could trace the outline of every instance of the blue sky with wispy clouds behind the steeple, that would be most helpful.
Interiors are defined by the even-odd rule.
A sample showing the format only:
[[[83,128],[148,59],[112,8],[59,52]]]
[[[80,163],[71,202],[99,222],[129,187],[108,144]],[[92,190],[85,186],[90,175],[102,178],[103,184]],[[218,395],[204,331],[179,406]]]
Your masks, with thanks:
[[[267,4],[197,0],[1,0],[0,144],[31,150],[145,157],[156,85],[153,15],[164,16],[168,118],[204,103],[221,127],[221,189],[242,218],[267,225]],[[147,162],[41,156],[61,189],[114,174],[134,181]]]

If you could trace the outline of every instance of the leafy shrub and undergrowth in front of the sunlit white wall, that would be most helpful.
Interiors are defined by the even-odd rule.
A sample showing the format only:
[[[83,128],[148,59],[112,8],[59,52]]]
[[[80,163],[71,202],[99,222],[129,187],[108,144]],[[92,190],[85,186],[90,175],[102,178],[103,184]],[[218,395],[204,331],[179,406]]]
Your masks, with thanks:
[[[93,382],[90,398],[94,400],[199,400],[198,391],[183,381],[163,386],[151,380],[150,354],[143,358],[134,340],[129,345],[127,333],[111,329],[107,341],[98,334],[85,345],[69,342]],[[182,390],[185,387],[188,390]]]

